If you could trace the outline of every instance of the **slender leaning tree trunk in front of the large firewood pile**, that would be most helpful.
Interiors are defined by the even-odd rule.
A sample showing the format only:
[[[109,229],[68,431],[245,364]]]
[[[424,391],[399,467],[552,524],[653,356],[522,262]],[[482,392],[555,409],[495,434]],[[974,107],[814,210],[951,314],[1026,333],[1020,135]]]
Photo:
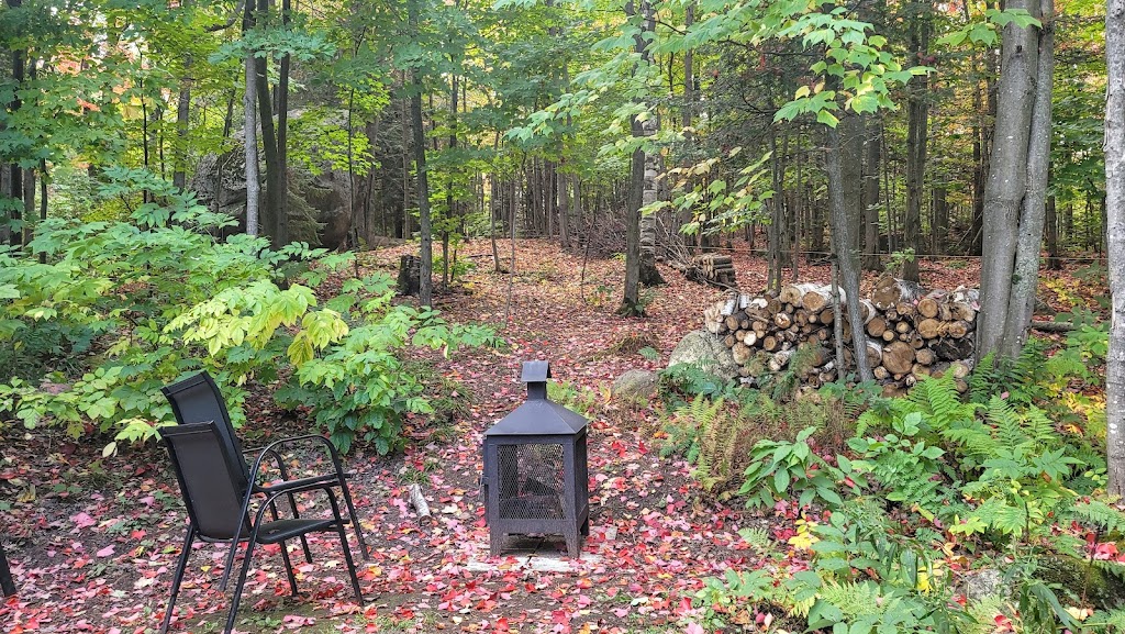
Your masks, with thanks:
[[[852,120],[855,119],[855,120]],[[840,286],[843,287],[847,302],[848,321],[854,324],[863,323],[863,314],[860,309],[860,258],[858,253],[852,249],[854,243],[852,229],[856,226],[856,220],[849,217],[847,204],[844,195],[844,144],[840,136],[856,134],[858,117],[844,115],[839,122],[839,128],[828,128],[828,204],[832,218],[832,253],[837,260],[840,274]],[[858,161],[858,157],[847,157],[846,160]],[[858,209],[856,209],[858,211]],[[862,328],[856,328],[856,340],[862,341]],[[871,381],[874,375],[867,365],[867,347],[855,346],[855,363],[860,370],[861,381]],[[844,368],[840,368],[843,374]]]

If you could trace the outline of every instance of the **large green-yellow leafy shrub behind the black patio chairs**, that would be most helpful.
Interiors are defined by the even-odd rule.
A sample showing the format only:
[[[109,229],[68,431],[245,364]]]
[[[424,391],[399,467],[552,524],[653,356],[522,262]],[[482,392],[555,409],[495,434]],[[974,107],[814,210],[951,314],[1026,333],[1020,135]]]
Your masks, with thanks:
[[[143,175],[128,184],[158,188]],[[314,425],[343,449],[357,439],[379,452],[399,443],[406,412],[431,411],[402,357],[412,347],[450,350],[494,343],[479,327],[446,323],[433,311],[394,306],[382,275],[349,279],[321,304],[313,292],[350,255],[204,230],[231,224],[191,196],[160,189],[133,223],[43,223],[25,256],[0,250],[0,339],[43,324],[65,333],[63,349],[90,348],[89,369],[53,393],[14,378],[0,385],[0,413],[28,427],[58,426],[74,436],[116,431],[151,438],[171,420],[159,389],[200,368],[227,385],[235,425],[242,385],[285,381],[278,400],[310,408]],[[43,255],[47,264],[35,256]]]

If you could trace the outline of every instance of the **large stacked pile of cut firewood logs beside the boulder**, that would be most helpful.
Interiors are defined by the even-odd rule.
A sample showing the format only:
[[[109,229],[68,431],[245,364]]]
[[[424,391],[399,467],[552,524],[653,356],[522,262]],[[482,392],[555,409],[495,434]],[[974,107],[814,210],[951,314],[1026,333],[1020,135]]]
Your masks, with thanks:
[[[840,292],[845,363],[854,366],[852,348],[862,340],[867,363],[888,393],[914,385],[921,376],[952,373],[957,387],[968,390],[972,369],[976,291],[926,292],[917,284],[885,276],[871,297],[860,301],[862,329],[847,320]],[[785,369],[801,359],[803,384],[819,386],[835,381],[831,287],[790,284],[776,296],[737,295],[709,306],[705,328],[730,348],[745,383],[767,372]],[[860,339],[856,331],[860,330]]]

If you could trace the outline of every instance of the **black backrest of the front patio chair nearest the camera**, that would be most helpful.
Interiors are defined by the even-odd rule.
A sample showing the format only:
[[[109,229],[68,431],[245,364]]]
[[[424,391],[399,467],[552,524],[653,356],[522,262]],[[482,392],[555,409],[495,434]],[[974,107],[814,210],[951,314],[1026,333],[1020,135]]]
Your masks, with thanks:
[[[240,516],[246,493],[246,474],[237,467],[212,421],[173,425],[156,430],[168,447],[188,517],[208,541],[234,539],[250,534],[250,518]]]

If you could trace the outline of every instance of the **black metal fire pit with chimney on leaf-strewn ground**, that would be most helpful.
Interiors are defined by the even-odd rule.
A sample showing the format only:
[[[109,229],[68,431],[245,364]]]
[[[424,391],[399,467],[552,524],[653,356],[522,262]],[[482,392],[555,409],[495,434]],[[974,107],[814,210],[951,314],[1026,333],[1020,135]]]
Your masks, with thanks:
[[[525,361],[528,400],[485,432],[485,504],[489,550],[504,537],[550,534],[566,538],[572,557],[590,535],[586,419],[547,398],[547,361]]]

